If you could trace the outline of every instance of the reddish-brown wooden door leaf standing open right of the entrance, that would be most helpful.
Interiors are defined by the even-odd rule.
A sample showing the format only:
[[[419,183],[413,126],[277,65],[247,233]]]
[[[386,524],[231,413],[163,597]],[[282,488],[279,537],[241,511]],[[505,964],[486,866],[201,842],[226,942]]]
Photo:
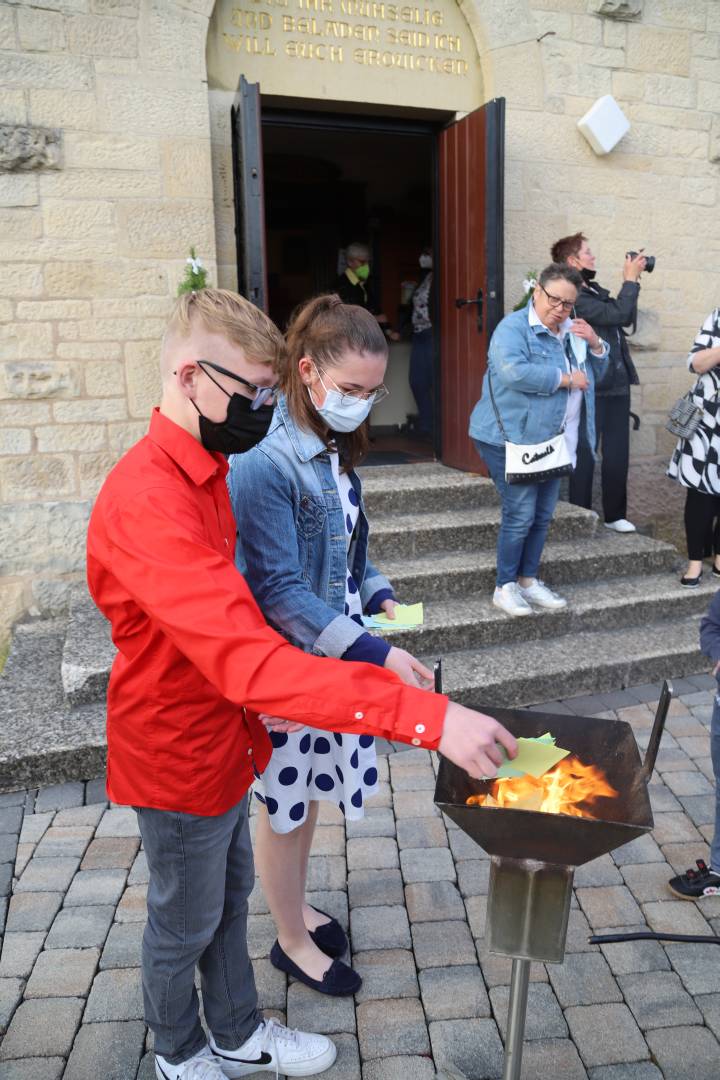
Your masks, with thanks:
[[[441,457],[468,472],[485,471],[467,422],[503,316],[504,124],[499,97],[439,136]]]

